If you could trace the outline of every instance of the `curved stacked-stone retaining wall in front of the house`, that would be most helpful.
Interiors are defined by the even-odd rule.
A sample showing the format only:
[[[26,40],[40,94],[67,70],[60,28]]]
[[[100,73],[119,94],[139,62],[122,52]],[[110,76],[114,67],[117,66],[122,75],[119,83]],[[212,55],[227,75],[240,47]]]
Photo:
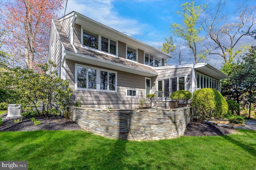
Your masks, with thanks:
[[[178,109],[92,109],[70,107],[72,119],[86,131],[129,141],[182,136],[190,122],[190,107]]]

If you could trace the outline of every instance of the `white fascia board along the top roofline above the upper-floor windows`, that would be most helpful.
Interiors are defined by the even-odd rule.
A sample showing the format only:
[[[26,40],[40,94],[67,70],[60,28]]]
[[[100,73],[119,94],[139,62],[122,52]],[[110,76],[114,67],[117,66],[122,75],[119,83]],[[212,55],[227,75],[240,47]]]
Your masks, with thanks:
[[[121,33],[120,31],[117,31],[116,29],[110,28],[110,27],[108,27],[108,26],[106,26],[106,25],[104,25],[104,24],[102,24],[102,23],[99,23],[98,21],[92,20],[91,18],[88,18],[88,17],[86,17],[86,16],[84,16],[84,15],[82,15],[82,14],[79,14],[79,13],[75,12],[75,11],[72,12],[72,13],[70,13],[70,14],[68,14],[68,15],[70,15],[70,16],[72,16],[72,15],[77,15],[78,18],[81,19],[81,20],[83,20],[83,21],[92,23],[93,25],[96,25],[97,27],[100,27],[100,28],[102,28],[102,29],[106,29],[106,30],[108,30],[108,31],[110,31],[110,32],[112,32],[112,33],[114,33],[114,34],[120,36],[120,37],[123,37],[124,39],[128,39],[128,40],[130,40],[130,41],[132,41],[132,42],[134,42],[134,43],[136,43],[136,44],[141,45],[142,47],[144,47],[144,48],[146,48],[146,49],[149,49],[149,50],[151,50],[151,51],[154,51],[154,52],[160,54],[160,55],[163,57],[163,59],[169,59],[170,57],[172,57],[170,54],[164,53],[163,51],[161,51],[161,50],[159,50],[159,49],[156,49],[155,47],[152,47],[152,46],[150,46],[150,45],[148,45],[148,44],[146,44],[146,43],[143,43],[142,41],[139,41],[138,39],[135,39],[135,38],[133,38],[133,37],[130,37],[130,36],[124,34],[124,33]],[[63,20],[63,19],[62,19],[62,20]],[[78,20],[76,20],[76,21],[78,21]],[[78,23],[78,24],[79,24],[79,23]],[[126,43],[126,42],[124,42],[124,43]],[[128,43],[128,45],[129,45],[129,43]],[[133,45],[133,44],[130,44],[130,45]],[[136,46],[136,45],[135,45],[135,46]],[[146,52],[147,52],[147,51],[146,51]]]

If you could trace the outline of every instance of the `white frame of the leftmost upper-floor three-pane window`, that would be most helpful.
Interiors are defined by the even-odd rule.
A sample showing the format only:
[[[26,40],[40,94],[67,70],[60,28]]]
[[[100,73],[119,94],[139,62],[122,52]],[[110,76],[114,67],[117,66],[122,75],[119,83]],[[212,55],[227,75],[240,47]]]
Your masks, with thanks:
[[[84,45],[84,36],[83,36],[84,30],[90,31],[90,32],[92,32],[92,33],[98,35],[98,49],[94,49],[94,48],[92,48],[92,47],[88,47],[88,46]],[[111,53],[108,53],[108,52],[105,52],[105,51],[101,51],[101,37],[108,38],[108,44],[109,44],[109,47],[108,47],[109,50],[108,50],[108,51],[110,51],[110,39],[111,39],[112,41],[116,41],[116,55],[111,54]],[[110,56],[112,56],[112,57],[118,58],[118,40],[113,39],[113,38],[110,38],[110,37],[108,37],[108,36],[106,36],[106,35],[102,35],[102,34],[100,34],[100,33],[97,33],[97,32],[95,32],[95,31],[92,31],[92,30],[90,30],[90,29],[86,29],[86,28],[84,28],[84,27],[81,27],[81,47],[82,47],[82,48],[85,48],[85,49],[89,49],[89,50],[91,50],[91,51],[96,51],[96,52],[98,52],[98,53],[102,53],[102,54],[106,54],[106,55],[110,55]]]

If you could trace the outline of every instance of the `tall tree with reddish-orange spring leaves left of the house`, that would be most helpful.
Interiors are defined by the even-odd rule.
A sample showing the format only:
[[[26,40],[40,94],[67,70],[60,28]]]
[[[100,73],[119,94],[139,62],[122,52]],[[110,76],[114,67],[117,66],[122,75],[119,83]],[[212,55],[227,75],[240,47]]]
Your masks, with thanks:
[[[46,61],[51,18],[57,17],[64,0],[14,0],[0,2],[1,32],[8,33],[1,39],[5,51],[22,58],[26,67]]]

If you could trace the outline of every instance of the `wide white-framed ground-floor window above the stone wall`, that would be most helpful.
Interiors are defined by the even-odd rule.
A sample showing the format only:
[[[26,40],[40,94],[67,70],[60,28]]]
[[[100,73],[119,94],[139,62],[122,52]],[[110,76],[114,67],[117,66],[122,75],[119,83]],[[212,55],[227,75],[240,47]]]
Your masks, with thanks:
[[[117,73],[76,64],[76,89],[116,92]]]

